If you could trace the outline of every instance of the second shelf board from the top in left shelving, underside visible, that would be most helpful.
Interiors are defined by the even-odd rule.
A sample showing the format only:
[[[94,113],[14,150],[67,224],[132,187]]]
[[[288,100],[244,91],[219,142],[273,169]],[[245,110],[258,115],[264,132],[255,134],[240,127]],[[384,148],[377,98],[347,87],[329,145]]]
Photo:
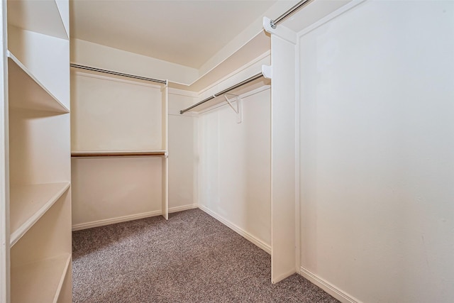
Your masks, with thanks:
[[[51,111],[60,114],[70,112],[70,109],[49,92],[21,61],[11,52],[7,53],[11,108]]]

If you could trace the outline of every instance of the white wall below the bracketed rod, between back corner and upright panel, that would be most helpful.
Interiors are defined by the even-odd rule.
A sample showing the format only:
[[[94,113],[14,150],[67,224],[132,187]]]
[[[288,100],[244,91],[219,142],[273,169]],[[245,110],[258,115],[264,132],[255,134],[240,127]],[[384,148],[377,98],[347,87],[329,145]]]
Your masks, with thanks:
[[[243,123],[229,106],[199,114],[199,204],[270,249],[270,89],[243,99]]]

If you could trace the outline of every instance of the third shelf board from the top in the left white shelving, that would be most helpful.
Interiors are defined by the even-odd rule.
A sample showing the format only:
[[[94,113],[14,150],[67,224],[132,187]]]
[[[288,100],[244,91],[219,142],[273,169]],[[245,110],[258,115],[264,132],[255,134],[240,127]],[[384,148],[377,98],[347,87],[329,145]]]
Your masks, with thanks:
[[[70,182],[11,187],[10,245],[13,246],[68,188]]]

